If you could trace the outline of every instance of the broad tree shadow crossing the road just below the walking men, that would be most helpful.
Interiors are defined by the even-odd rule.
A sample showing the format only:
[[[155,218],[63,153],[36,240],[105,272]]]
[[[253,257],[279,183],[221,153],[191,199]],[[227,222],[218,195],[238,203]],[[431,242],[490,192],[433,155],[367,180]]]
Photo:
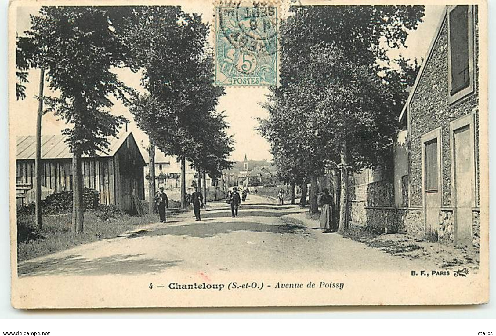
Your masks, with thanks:
[[[137,238],[143,236],[190,236],[198,238],[209,238],[218,234],[230,233],[233,231],[252,231],[252,232],[272,232],[272,233],[304,233],[306,227],[295,223],[285,224],[263,224],[257,222],[222,222],[222,223],[193,223],[181,226],[170,226],[158,230],[142,230],[129,235],[127,238]]]

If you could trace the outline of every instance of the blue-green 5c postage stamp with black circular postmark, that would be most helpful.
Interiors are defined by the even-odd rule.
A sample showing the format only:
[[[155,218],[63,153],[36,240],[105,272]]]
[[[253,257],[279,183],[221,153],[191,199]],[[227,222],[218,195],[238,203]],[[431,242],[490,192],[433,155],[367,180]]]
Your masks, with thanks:
[[[215,7],[215,83],[277,84],[276,6]]]

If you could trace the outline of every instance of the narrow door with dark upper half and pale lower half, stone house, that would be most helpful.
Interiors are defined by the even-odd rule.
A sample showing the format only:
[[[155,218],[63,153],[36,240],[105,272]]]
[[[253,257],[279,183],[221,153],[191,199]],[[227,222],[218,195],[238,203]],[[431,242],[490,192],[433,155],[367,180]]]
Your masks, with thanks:
[[[424,199],[426,237],[437,239],[441,193],[437,138],[424,142]]]

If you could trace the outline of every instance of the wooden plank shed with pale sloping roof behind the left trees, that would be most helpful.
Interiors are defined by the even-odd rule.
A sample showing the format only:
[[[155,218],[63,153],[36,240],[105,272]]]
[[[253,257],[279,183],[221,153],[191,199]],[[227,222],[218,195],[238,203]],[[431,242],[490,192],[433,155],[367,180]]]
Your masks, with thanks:
[[[72,153],[65,135],[43,135],[41,144],[41,184],[54,193],[72,190]],[[143,167],[146,165],[132,133],[121,132],[109,138],[107,152],[83,156],[84,186],[100,193],[100,203],[114,204],[133,212],[133,196],[144,199]],[[24,202],[27,191],[34,188],[36,138],[17,137],[16,189],[17,199]],[[45,193],[46,195],[46,193]]]

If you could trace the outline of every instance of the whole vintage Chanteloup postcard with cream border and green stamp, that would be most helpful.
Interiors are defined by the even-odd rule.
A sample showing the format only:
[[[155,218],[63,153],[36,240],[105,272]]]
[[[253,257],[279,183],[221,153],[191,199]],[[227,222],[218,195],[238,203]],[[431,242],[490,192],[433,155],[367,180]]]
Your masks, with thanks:
[[[15,308],[489,300],[487,3],[9,7]]]

